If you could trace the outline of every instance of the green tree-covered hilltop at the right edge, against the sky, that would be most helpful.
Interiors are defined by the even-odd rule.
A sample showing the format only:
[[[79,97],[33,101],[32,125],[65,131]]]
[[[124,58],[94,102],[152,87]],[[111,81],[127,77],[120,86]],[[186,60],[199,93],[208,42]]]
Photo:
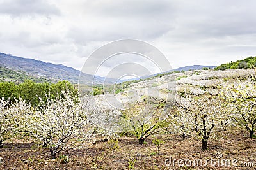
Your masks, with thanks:
[[[221,64],[217,66],[216,70],[225,70],[225,69],[252,69],[256,67],[256,57],[247,57],[243,60],[237,60],[235,62],[228,62],[226,64]]]

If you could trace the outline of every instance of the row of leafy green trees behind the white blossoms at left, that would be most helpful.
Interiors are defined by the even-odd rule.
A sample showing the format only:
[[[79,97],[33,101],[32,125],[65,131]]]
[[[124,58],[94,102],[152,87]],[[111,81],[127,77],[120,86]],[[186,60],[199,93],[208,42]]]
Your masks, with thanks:
[[[10,103],[15,102],[15,99],[22,98],[26,103],[31,103],[32,106],[39,104],[41,97],[46,100],[45,94],[51,93],[53,98],[61,94],[61,90],[69,89],[72,94],[76,94],[77,90],[69,81],[58,81],[58,83],[36,83],[32,80],[25,80],[23,83],[16,85],[13,82],[0,82],[0,99],[4,98],[7,101],[10,98]]]

